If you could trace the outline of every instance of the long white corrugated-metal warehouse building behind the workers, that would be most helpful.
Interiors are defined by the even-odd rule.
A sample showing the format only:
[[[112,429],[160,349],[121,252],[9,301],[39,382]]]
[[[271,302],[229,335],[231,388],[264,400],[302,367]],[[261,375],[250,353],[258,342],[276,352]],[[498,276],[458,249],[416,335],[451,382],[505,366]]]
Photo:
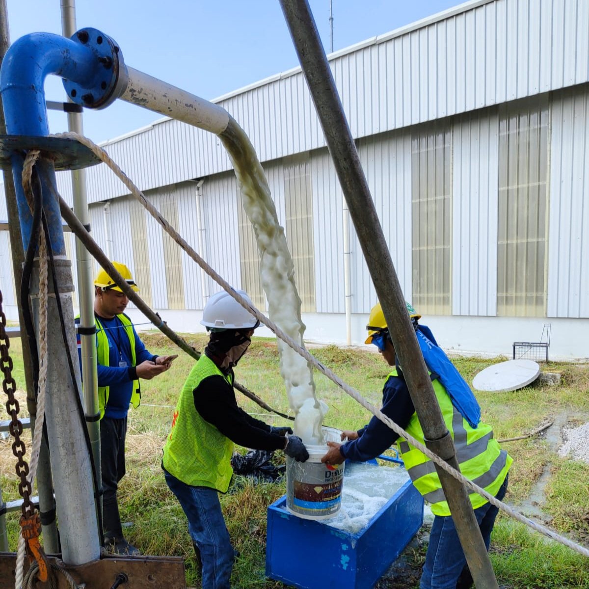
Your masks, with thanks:
[[[539,342],[550,323],[551,359],[589,357],[589,2],[477,0],[329,59],[403,292],[438,342],[511,355],[512,342]],[[375,291],[351,223],[344,251],[342,191],[300,68],[215,102],[266,171],[305,338],[346,342],[349,256],[352,342],[362,343]],[[104,147],[194,249],[265,308],[253,230],[217,137],[164,119]],[[217,284],[104,164],[86,176],[94,239],[131,267],[171,327],[202,330]],[[71,201],[69,173],[58,186]],[[16,319],[7,231],[0,253],[4,306]]]

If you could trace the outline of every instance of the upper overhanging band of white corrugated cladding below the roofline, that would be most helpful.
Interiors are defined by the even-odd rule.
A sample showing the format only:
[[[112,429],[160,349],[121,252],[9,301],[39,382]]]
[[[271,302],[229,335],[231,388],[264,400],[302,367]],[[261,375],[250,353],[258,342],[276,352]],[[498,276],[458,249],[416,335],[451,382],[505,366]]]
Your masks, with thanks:
[[[475,2],[344,50],[331,65],[355,137],[423,123],[589,81],[589,2]],[[325,145],[303,74],[275,78],[218,101],[260,161]],[[172,120],[105,147],[145,189],[230,169],[216,137]],[[127,193],[102,164],[87,176],[90,201]]]

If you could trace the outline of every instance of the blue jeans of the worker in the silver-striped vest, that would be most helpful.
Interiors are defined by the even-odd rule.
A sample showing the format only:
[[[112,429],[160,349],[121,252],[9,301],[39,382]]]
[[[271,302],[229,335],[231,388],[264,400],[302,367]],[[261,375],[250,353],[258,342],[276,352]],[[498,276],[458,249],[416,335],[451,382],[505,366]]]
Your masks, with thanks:
[[[505,477],[505,481],[495,495],[499,501],[505,497],[507,478]],[[489,550],[491,531],[498,512],[499,509],[489,502],[475,509],[475,516],[487,550]],[[436,515],[429,535],[428,552],[425,555],[419,589],[456,589],[459,578],[461,587],[470,586],[471,577],[454,527],[454,520],[450,515],[447,517]]]

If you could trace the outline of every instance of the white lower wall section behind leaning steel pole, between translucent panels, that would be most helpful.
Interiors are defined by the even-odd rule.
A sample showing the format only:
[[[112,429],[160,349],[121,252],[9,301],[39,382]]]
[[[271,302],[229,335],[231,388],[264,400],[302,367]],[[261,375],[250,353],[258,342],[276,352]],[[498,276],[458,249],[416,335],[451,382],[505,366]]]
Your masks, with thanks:
[[[411,299],[411,134],[358,141],[370,193],[405,296]],[[327,150],[311,154],[315,288],[318,313],[345,311],[343,194]],[[368,313],[376,293],[350,220],[352,312]]]

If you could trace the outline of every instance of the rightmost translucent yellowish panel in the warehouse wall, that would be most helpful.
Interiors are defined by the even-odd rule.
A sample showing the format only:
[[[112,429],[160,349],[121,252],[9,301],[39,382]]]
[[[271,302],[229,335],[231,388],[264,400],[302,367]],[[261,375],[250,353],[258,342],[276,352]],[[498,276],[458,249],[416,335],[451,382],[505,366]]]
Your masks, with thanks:
[[[497,315],[546,314],[548,95],[499,107]]]

